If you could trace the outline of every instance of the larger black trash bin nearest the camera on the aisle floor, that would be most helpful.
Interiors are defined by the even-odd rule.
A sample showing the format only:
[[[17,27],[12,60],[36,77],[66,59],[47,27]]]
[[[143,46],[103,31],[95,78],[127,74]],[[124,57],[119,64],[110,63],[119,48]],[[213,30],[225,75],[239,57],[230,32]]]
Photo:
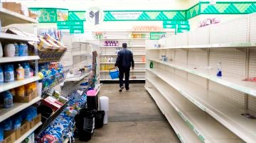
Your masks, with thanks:
[[[75,116],[75,126],[78,128],[80,141],[87,142],[91,139],[95,128],[95,112],[92,108],[83,108]]]

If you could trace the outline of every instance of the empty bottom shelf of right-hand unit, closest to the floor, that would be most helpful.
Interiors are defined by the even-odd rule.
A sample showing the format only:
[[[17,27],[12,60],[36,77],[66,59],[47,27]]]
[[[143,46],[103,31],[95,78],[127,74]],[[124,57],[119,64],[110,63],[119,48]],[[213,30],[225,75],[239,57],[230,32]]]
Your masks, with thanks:
[[[170,88],[164,81],[154,77],[147,77],[146,80],[174,107],[201,142],[242,142],[210,115],[183,98],[174,88]]]

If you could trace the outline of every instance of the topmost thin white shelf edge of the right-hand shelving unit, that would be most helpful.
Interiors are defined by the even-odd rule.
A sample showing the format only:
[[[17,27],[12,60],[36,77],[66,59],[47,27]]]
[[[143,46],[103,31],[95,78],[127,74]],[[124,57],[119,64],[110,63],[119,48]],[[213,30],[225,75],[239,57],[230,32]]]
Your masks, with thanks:
[[[206,49],[206,48],[255,48],[256,43],[242,42],[234,44],[212,44],[212,45],[186,45],[176,47],[149,47],[146,50],[168,50],[168,49]]]

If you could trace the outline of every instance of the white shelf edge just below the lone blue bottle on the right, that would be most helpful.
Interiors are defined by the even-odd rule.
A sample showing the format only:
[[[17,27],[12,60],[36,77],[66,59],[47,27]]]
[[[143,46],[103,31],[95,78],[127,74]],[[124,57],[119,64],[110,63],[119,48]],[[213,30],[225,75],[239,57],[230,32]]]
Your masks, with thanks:
[[[190,74],[195,74],[196,76],[201,76],[203,78],[206,78],[206,79],[208,79],[210,81],[214,81],[214,82],[216,82],[218,84],[221,84],[223,86],[227,86],[229,88],[233,88],[233,89],[235,89],[237,91],[241,91],[243,93],[248,93],[248,94],[250,94],[252,96],[256,96],[256,89],[248,88],[248,87],[242,86],[240,84],[235,84],[235,83],[233,83],[231,81],[227,81],[225,79],[221,79],[218,76],[211,76],[211,75],[208,75],[208,74],[203,74],[200,71],[196,71],[196,70],[193,70],[193,69],[187,69],[185,67],[181,67],[181,66],[178,66],[176,64],[171,64],[171,63],[168,63],[168,62],[163,62],[163,61],[161,61],[159,59],[149,59],[149,60],[153,61],[153,62],[159,62],[161,64],[165,64],[165,65],[167,65],[169,67],[173,67],[175,69],[180,69],[182,71],[186,71],[186,72],[188,72]],[[250,83],[250,84],[254,84],[254,83]],[[255,84],[255,87],[256,87],[256,84]]]

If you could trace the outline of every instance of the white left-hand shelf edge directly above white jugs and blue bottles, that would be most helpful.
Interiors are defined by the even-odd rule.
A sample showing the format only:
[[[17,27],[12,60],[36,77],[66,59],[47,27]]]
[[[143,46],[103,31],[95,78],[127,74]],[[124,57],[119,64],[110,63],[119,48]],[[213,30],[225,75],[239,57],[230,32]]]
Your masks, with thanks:
[[[24,35],[9,34],[9,33],[0,33],[0,39],[19,40],[19,41],[38,41],[38,38],[36,38],[36,36],[31,37],[31,36],[24,36]]]

